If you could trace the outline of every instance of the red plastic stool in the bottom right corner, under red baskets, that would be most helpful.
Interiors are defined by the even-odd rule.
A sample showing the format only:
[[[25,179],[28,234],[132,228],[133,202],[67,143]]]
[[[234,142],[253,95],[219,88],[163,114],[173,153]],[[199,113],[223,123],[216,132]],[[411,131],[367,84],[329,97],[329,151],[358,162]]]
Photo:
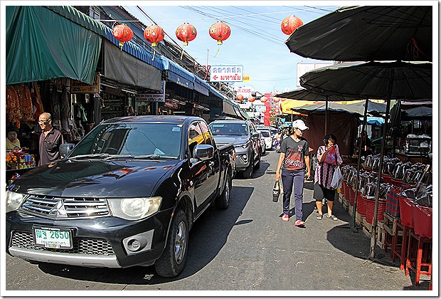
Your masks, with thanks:
[[[420,283],[421,274],[432,277],[432,239],[418,236],[413,230],[409,232],[406,276],[409,270],[415,272],[415,285]]]

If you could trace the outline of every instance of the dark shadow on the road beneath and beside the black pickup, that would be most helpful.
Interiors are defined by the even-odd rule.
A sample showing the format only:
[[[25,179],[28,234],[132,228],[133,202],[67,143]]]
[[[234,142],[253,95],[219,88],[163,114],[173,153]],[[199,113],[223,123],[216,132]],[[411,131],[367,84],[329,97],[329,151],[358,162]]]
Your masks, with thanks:
[[[263,166],[263,164],[262,164]],[[253,220],[238,221],[245,205],[253,194],[253,187],[233,187],[230,206],[218,210],[214,205],[193,224],[189,234],[189,246],[184,271],[175,278],[162,278],[154,266],[130,268],[83,268],[50,263],[40,263],[44,273],[74,280],[95,281],[121,285],[156,285],[192,276],[208,265],[225,245],[231,229]]]

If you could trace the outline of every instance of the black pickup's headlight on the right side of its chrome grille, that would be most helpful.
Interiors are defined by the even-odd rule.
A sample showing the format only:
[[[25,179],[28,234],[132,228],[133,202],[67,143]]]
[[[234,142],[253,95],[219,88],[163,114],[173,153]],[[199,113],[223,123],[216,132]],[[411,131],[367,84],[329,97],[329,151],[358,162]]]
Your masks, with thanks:
[[[112,215],[127,220],[144,219],[155,214],[161,201],[161,196],[107,199]]]

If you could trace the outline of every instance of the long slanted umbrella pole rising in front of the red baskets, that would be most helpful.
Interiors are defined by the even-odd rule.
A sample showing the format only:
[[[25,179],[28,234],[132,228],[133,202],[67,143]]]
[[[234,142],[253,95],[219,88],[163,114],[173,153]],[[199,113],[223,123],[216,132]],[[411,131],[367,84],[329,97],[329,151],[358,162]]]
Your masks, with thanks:
[[[377,189],[375,192],[375,208],[373,209],[371,246],[369,248],[369,258],[371,260],[373,260],[373,258],[375,258],[378,201],[380,199],[381,174],[383,172],[384,152],[386,151],[386,145],[388,143],[386,140],[386,131],[387,131],[387,127],[388,127],[390,98],[392,97],[392,85],[393,85],[393,69],[390,70],[390,78],[389,78],[389,83],[388,83],[388,95],[387,95],[387,100],[386,100],[386,115],[384,117],[383,140],[381,142],[380,165],[378,165],[378,178],[377,178],[378,180],[377,180]]]

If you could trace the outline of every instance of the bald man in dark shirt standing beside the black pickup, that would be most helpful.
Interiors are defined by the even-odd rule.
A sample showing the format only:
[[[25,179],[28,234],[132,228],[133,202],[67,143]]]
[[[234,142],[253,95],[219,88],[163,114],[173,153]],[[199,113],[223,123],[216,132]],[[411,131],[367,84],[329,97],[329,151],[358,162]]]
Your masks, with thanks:
[[[40,140],[38,141],[38,151],[40,154],[38,166],[40,166],[60,158],[60,145],[63,144],[63,135],[60,131],[52,127],[50,113],[41,113],[38,117],[38,125],[40,125],[41,130],[43,130],[40,135]]]

